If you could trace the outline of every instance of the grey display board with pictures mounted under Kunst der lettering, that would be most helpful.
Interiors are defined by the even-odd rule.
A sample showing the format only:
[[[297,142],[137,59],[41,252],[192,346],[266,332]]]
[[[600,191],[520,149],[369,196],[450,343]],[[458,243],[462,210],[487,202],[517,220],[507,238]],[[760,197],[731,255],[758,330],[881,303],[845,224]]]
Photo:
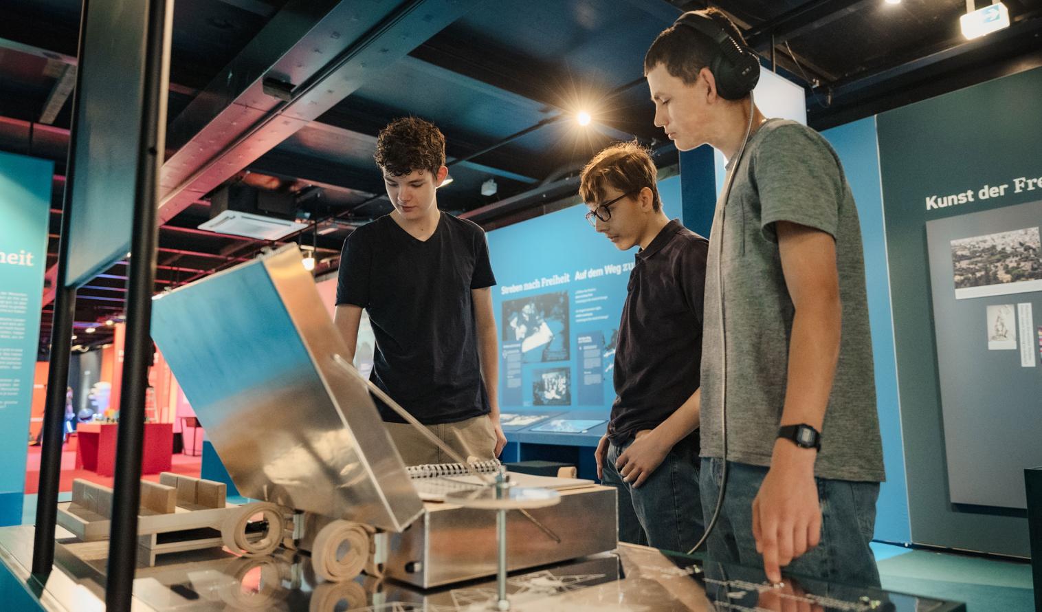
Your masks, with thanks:
[[[926,223],[956,504],[1026,508],[1023,470],[1042,465],[1040,226],[1042,201]]]

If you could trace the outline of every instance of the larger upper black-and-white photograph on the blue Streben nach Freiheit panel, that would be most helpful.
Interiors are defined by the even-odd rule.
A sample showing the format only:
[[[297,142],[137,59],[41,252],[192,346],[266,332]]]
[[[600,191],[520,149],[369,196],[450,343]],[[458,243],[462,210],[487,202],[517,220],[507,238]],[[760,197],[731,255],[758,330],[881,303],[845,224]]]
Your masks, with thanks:
[[[503,342],[520,342],[524,363],[567,361],[568,292],[557,291],[503,302]]]

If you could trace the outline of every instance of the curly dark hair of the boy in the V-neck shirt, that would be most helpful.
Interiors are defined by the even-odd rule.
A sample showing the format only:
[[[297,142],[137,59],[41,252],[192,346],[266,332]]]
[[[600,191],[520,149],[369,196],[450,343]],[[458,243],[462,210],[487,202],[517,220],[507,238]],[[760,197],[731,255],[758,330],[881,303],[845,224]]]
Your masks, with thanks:
[[[445,165],[445,136],[433,123],[416,117],[395,119],[376,138],[376,165],[391,176],[415,170],[438,174]]]

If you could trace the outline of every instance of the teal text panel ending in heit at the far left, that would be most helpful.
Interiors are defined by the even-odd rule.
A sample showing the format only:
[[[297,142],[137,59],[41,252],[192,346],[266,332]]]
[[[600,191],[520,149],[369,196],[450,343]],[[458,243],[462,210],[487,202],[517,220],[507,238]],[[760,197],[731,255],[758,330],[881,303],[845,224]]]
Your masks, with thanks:
[[[0,524],[21,524],[54,164],[0,152]]]

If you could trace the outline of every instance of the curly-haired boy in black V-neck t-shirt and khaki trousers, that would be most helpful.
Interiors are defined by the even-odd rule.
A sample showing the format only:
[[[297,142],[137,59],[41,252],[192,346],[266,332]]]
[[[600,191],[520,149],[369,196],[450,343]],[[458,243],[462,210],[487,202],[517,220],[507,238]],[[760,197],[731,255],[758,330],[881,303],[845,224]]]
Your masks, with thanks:
[[[334,321],[353,360],[362,311],[376,337],[371,378],[461,456],[488,460],[506,443],[499,425],[498,345],[485,231],[438,210],[445,137],[417,118],[393,121],[376,165],[394,211],[344,242]],[[406,465],[445,463],[377,401]]]

